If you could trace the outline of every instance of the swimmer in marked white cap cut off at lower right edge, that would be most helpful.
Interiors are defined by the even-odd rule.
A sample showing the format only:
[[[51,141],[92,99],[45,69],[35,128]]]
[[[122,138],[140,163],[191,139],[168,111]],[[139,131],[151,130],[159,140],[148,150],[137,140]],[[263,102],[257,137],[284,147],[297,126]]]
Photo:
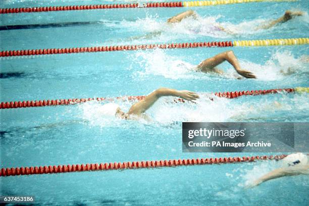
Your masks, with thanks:
[[[309,175],[309,163],[303,153],[293,153],[282,160],[282,168],[273,170],[255,180],[249,187],[255,187],[268,180],[295,175]]]

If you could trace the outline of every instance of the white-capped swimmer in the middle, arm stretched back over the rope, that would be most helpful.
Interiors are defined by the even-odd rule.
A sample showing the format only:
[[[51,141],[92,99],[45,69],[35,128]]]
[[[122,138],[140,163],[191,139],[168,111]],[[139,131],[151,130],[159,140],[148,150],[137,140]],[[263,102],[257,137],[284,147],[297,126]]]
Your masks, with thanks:
[[[150,120],[145,112],[162,96],[176,96],[188,101],[193,101],[199,98],[195,92],[187,90],[175,90],[169,88],[159,88],[148,94],[144,99],[138,101],[131,106],[129,112],[124,113],[117,104],[108,103],[99,109],[99,113],[103,116],[117,117],[120,119],[144,119]]]

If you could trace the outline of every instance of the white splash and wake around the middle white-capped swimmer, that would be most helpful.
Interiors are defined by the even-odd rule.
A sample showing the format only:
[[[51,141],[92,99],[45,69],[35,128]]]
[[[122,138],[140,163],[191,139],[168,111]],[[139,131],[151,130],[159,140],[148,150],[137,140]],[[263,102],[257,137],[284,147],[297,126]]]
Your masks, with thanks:
[[[211,97],[209,93],[199,93],[200,98],[194,102],[171,103],[173,97],[162,97],[148,111],[150,122],[145,120],[121,120],[100,114],[102,104],[87,102],[79,105],[79,117],[90,126],[99,127],[144,127],[152,125],[181,126],[181,122],[263,122],[267,121],[308,121],[303,115],[309,111],[308,95],[303,94],[269,94],[247,96],[237,99]],[[292,96],[291,96],[292,95]],[[244,101],[244,98],[245,101]],[[133,102],[118,101],[124,111],[128,111]],[[307,112],[306,112],[307,111]],[[289,119],[289,116],[293,119]],[[304,119],[305,118],[305,119]],[[180,124],[175,124],[180,123]]]

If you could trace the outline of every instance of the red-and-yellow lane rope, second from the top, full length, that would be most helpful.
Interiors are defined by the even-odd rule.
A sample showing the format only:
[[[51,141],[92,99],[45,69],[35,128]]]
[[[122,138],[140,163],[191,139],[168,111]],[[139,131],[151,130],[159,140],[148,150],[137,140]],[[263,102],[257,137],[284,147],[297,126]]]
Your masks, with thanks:
[[[140,44],[140,45],[118,45],[118,46],[92,46],[74,48],[43,48],[26,50],[4,50],[0,57],[17,57],[33,55],[56,55],[72,53],[92,52],[114,52],[122,50],[139,49],[172,49],[172,48],[195,48],[195,47],[230,47],[230,46],[284,46],[309,44],[309,38],[289,39],[263,39],[263,40],[237,40],[237,41],[212,41],[212,42],[187,42],[187,43],[166,43],[166,44]]]

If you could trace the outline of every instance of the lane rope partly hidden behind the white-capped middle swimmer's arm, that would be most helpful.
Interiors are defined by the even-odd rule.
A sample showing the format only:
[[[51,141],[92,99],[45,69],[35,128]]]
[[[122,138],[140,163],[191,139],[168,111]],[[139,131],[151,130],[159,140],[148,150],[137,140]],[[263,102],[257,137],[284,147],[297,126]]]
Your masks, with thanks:
[[[267,89],[267,90],[247,90],[247,91],[228,91],[228,92],[216,92],[211,93],[218,97],[225,98],[236,98],[240,96],[246,95],[263,95],[263,94],[274,94],[279,92],[307,92],[309,93],[309,87],[296,87],[296,88],[284,88],[284,89]],[[46,106],[57,106],[57,105],[75,105],[84,103],[87,101],[113,101],[113,100],[141,100],[144,99],[145,96],[123,96],[123,97],[115,97],[115,98],[105,98],[105,97],[97,97],[97,98],[70,98],[70,99],[53,99],[53,100],[32,100],[32,101],[10,101],[10,102],[1,102],[0,109],[14,109],[14,108],[29,108],[29,107],[46,107]],[[181,98],[175,98],[174,102],[184,102],[185,100]]]

